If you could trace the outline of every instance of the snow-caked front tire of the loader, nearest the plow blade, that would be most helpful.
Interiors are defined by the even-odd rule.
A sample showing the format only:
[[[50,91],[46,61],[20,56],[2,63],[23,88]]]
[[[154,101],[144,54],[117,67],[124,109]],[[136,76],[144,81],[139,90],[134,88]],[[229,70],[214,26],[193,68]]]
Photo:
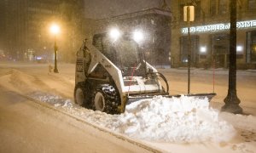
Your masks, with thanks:
[[[115,88],[109,84],[101,84],[96,88],[92,96],[94,110],[106,112],[108,114],[119,114],[119,97]]]

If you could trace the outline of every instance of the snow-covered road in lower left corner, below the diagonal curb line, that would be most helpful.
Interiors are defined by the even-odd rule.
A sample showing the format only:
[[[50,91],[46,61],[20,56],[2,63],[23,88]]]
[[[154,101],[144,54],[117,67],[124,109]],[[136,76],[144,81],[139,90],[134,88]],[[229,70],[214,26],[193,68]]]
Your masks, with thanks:
[[[159,152],[0,86],[0,152]]]

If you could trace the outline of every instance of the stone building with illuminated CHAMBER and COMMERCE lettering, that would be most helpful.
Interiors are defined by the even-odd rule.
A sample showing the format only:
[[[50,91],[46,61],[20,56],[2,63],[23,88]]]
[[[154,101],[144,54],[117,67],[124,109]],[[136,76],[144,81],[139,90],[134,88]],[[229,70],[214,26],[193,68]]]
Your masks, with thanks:
[[[256,0],[236,2],[237,68],[256,68]],[[188,62],[188,22],[183,21],[183,6],[188,4],[195,6],[195,21],[190,22],[191,64],[195,67],[228,67],[229,0],[172,1],[172,67]]]

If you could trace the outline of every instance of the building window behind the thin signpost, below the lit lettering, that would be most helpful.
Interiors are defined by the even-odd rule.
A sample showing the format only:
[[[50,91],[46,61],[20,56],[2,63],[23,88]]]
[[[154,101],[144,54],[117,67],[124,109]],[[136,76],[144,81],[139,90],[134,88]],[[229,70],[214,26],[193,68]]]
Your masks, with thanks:
[[[191,63],[197,62],[199,36],[191,36]],[[183,63],[188,62],[189,39],[187,36],[180,37],[180,61]]]

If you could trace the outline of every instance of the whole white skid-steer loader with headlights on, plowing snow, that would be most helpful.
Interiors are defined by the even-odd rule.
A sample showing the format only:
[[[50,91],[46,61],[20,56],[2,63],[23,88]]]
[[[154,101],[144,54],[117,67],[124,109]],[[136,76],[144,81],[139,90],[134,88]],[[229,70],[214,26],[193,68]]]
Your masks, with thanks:
[[[166,77],[148,64],[137,41],[140,31],[120,33],[117,29],[85,39],[77,52],[74,102],[109,114],[125,112],[125,105],[155,95],[169,95]],[[163,84],[166,84],[163,87]],[[215,94],[187,94],[209,100]]]

